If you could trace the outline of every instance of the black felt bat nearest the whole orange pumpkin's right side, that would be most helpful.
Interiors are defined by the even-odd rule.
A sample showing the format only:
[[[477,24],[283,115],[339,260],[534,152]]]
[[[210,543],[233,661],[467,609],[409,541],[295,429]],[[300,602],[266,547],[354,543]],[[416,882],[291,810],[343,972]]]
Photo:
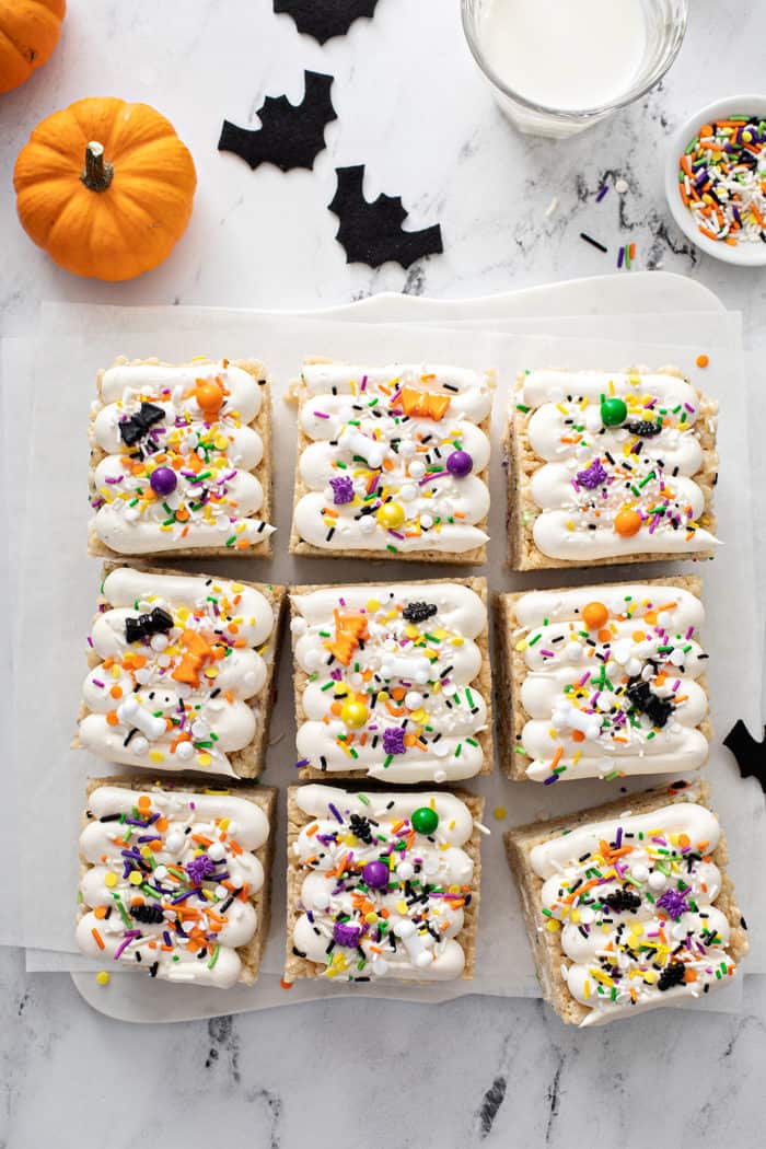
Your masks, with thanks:
[[[325,146],[325,128],[336,119],[330,90],[332,76],[304,72],[305,93],[300,103],[286,95],[268,95],[258,110],[261,128],[238,128],[224,119],[218,140],[219,152],[233,152],[250,168],[273,163],[283,171],[314,168],[314,161]]]

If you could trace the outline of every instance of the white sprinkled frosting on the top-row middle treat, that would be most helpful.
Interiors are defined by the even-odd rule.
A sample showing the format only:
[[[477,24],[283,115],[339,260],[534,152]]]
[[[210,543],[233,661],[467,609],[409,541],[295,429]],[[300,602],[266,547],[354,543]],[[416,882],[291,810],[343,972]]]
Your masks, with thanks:
[[[327,550],[462,554],[482,546],[489,510],[494,379],[455,367],[311,363],[300,424],[311,444],[295,529]],[[470,456],[470,472],[449,456]],[[463,460],[465,462],[465,460]]]

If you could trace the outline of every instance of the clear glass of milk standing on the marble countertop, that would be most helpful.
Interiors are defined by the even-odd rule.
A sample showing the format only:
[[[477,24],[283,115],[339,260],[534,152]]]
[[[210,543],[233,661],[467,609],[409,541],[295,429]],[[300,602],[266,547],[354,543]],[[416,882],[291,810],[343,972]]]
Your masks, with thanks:
[[[673,63],[688,0],[463,0],[495,99],[523,132],[565,137],[649,91]]]

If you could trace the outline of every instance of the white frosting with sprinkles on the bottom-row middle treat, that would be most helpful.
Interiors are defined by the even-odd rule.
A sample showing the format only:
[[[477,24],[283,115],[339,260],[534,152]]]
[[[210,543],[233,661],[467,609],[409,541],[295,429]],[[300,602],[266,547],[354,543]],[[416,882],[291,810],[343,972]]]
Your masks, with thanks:
[[[293,845],[303,873],[295,950],[341,981],[459,978],[463,908],[473,862],[463,847],[471,811],[452,794],[348,794],[302,786],[295,801],[312,820]],[[416,810],[434,811],[431,833],[413,828]],[[385,862],[377,886],[364,867]]]

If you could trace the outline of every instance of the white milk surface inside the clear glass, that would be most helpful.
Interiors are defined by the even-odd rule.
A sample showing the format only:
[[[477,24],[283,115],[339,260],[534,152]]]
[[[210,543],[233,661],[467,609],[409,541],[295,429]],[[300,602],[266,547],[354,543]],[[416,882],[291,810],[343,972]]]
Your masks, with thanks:
[[[479,29],[498,79],[562,111],[619,100],[647,47],[641,0],[487,0]]]

